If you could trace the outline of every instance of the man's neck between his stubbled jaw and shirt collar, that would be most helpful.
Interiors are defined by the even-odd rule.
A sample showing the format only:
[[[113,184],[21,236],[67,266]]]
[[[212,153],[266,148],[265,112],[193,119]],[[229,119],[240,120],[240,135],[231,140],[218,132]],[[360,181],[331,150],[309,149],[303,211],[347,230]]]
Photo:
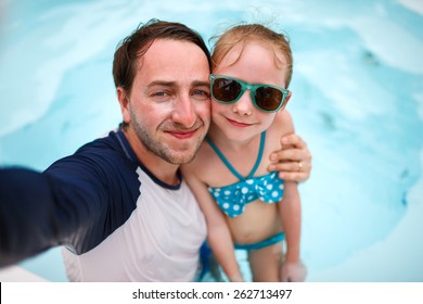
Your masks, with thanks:
[[[124,135],[136,153],[138,160],[140,160],[140,162],[157,179],[172,186],[180,183],[180,179],[177,175],[179,165],[170,164],[156,154],[152,153],[144,147],[133,130],[124,130]]]

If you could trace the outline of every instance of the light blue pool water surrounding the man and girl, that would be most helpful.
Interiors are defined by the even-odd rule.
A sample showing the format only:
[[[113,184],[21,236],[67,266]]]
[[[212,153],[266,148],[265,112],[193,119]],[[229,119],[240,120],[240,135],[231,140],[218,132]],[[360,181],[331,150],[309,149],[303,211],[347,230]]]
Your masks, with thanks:
[[[423,281],[422,1],[16,0],[0,17],[0,165],[37,169],[119,123],[113,53],[139,22],[206,39],[240,21],[285,30],[287,110],[313,155],[299,186],[308,280]],[[66,280],[59,249],[21,266]]]

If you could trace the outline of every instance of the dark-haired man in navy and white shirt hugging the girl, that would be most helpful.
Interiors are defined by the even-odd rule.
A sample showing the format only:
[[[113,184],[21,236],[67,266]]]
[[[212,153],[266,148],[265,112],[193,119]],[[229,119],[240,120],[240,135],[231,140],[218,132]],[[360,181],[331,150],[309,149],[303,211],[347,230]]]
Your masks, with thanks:
[[[151,21],[127,37],[113,63],[121,127],[42,174],[0,170],[0,266],[64,245],[72,281],[195,280],[206,225],[179,165],[208,129],[209,73],[207,47],[182,24]],[[299,162],[280,165],[307,178],[297,147],[282,153]]]

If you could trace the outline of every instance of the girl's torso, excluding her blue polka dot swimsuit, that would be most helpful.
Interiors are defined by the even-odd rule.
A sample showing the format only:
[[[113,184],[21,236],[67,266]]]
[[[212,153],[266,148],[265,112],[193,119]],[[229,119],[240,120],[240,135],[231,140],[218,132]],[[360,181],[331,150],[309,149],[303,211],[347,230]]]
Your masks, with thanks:
[[[266,131],[262,157],[254,174],[255,177],[269,175],[267,168],[270,165],[270,154],[281,149],[281,136],[292,131],[290,117],[281,116],[274,119],[274,123]],[[234,148],[229,144],[220,144],[218,149],[240,175],[247,177],[256,163],[259,145],[260,135],[257,135],[243,145]],[[221,188],[240,181],[206,141],[202,144],[193,165],[196,175],[208,187]],[[260,200],[246,203],[242,214],[235,217],[226,216],[226,219],[235,243],[255,243],[274,236],[282,229],[278,204],[265,203]]]

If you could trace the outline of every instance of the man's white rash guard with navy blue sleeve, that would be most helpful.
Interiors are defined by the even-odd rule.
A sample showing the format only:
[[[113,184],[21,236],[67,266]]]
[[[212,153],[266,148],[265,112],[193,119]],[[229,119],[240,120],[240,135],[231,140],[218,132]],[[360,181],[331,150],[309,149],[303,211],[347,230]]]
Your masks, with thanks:
[[[180,180],[158,180],[121,130],[42,174],[1,169],[0,265],[64,245],[70,281],[191,281],[206,225]]]

